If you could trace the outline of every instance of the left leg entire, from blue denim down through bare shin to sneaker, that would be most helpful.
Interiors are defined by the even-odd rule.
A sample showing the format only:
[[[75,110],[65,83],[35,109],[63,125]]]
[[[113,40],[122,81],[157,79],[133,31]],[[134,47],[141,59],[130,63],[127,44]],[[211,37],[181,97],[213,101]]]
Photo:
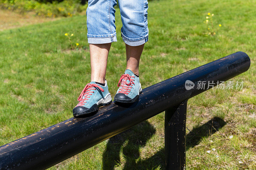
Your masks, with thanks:
[[[85,85],[73,109],[75,117],[98,110],[98,106],[112,102],[105,80],[108,52],[111,42],[116,41],[116,0],[89,0],[86,10],[87,39],[90,44],[91,82]]]

